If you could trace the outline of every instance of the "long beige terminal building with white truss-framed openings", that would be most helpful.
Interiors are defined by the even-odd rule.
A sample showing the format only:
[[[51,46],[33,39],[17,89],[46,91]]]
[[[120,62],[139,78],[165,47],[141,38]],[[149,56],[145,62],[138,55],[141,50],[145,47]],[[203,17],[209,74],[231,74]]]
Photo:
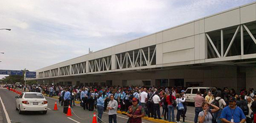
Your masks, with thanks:
[[[256,88],[256,2],[44,67],[30,80]]]

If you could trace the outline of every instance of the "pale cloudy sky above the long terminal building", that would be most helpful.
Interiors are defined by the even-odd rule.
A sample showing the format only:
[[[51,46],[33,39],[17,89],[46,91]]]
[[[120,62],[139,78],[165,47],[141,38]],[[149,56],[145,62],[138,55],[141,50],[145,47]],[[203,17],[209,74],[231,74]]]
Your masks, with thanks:
[[[0,28],[11,28],[0,30],[0,70],[38,70],[255,1],[0,0]]]

